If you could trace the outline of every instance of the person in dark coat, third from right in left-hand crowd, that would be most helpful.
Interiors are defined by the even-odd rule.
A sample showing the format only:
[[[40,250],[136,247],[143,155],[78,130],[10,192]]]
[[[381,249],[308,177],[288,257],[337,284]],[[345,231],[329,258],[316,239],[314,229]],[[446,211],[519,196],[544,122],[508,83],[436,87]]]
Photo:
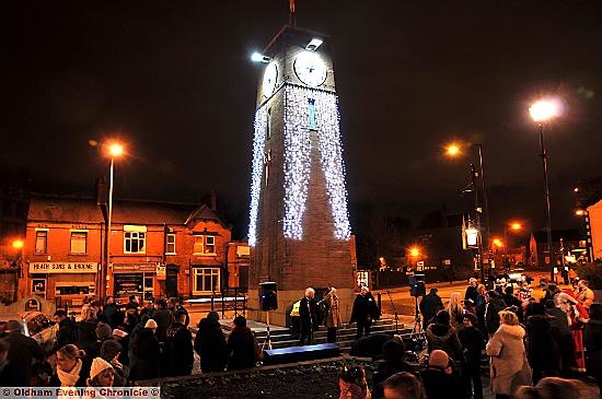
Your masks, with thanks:
[[[169,359],[170,373],[163,375],[183,376],[190,375],[195,354],[193,350],[193,333],[184,325],[187,313],[178,310],[175,313],[175,321],[167,329],[165,352]]]

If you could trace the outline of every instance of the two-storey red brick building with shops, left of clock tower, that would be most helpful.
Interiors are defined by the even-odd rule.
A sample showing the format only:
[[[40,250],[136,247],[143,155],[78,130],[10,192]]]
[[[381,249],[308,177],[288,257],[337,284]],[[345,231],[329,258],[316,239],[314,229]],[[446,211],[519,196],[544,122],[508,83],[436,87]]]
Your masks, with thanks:
[[[247,244],[232,242],[231,227],[207,206],[118,200],[111,230],[103,272],[107,227],[101,207],[85,198],[33,196],[19,296],[76,305],[104,292],[118,298],[199,297],[247,281]]]

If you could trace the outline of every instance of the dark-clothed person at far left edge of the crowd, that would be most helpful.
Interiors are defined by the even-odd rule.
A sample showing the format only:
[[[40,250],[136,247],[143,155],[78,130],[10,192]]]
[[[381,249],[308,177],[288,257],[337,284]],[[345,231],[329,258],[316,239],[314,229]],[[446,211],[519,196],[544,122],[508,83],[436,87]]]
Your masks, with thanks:
[[[9,320],[5,331],[7,336],[3,339],[9,343],[8,359],[16,368],[22,371],[28,386],[32,377],[32,361],[34,359],[40,362],[44,361],[44,350],[35,339],[21,332],[21,322],[18,320]]]

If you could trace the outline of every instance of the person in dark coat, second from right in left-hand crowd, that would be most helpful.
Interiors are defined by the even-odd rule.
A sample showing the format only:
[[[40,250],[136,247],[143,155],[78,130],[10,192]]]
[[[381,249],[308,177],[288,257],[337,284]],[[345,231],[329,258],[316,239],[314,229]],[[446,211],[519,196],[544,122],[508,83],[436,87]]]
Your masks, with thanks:
[[[211,310],[198,322],[195,351],[200,357],[202,373],[223,372],[228,364],[228,344],[218,320],[219,314]]]

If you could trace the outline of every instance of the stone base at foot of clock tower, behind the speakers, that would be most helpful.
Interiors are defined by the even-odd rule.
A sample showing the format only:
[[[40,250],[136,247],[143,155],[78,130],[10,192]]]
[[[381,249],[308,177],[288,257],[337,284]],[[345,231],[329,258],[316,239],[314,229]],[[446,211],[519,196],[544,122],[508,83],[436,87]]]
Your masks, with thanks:
[[[351,317],[351,308],[356,294],[351,289],[337,289],[338,304],[340,307],[340,319],[343,322],[349,322]],[[278,291],[278,309],[269,313],[269,324],[278,327],[290,327],[290,312],[292,305],[301,300],[305,290],[282,290]],[[316,301],[321,298],[316,297]],[[259,306],[259,291],[248,290],[248,302],[246,318],[259,322],[266,322],[266,312]]]

